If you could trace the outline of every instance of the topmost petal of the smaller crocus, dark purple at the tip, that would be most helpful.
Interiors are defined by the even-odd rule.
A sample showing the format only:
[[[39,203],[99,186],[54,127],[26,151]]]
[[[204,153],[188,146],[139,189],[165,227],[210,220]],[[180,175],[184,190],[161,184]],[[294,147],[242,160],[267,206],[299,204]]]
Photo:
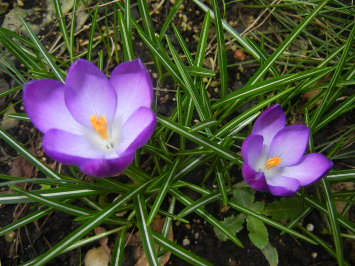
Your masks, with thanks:
[[[263,136],[265,149],[268,150],[271,140],[278,131],[285,127],[285,123],[286,116],[281,106],[279,104],[272,105],[258,117],[252,134]]]

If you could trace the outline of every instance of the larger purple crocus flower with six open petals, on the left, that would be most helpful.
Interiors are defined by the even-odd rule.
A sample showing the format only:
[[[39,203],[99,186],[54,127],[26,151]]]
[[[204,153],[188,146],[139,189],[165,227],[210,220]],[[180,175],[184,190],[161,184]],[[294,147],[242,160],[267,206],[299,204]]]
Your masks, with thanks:
[[[45,134],[46,153],[95,177],[122,172],[149,140],[156,124],[152,98],[152,81],[140,59],[120,64],[110,79],[79,59],[65,85],[38,80],[23,88],[25,110]]]

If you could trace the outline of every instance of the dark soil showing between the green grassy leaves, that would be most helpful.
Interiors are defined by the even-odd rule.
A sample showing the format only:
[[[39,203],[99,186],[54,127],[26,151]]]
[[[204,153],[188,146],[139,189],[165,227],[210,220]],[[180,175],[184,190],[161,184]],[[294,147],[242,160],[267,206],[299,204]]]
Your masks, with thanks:
[[[24,1],[24,3],[26,2],[27,1]],[[43,3],[43,1],[39,1],[39,2]],[[13,7],[13,3],[15,2],[10,2],[10,8]],[[164,19],[168,11],[170,10],[171,6],[172,5],[169,3],[169,1],[166,1],[166,3],[163,6],[163,9],[160,10],[160,14],[153,15],[152,18],[154,20],[154,24],[157,26],[156,32],[159,32],[159,29],[162,26]],[[26,8],[31,8],[31,7],[32,5],[26,4]],[[227,11],[228,21],[232,20],[231,18],[235,16],[235,14],[242,14],[241,19],[243,19],[246,18],[247,15],[256,15],[256,16],[258,15],[258,14],[252,14],[250,12],[261,12],[259,10],[251,11],[251,9],[248,9],[248,10],[242,10],[242,12],[239,13],[240,7],[239,9],[238,7],[239,6],[237,5],[233,5],[233,9]],[[138,9],[133,8],[132,14],[136,18],[138,18],[139,17]],[[189,21],[190,20],[193,21],[193,29],[195,30],[196,28],[196,32],[194,30],[184,32],[182,26],[182,19],[179,19],[177,17],[174,19],[173,23],[182,32],[184,38],[188,40],[187,44],[189,45],[190,50],[195,51],[197,47],[197,41],[194,40],[193,35],[199,34],[201,23],[203,21],[204,12],[200,11],[192,3],[187,2],[185,3],[183,14],[187,15]],[[49,26],[49,28],[51,27],[52,25]],[[245,28],[244,26],[238,26],[238,27],[240,27],[239,30],[241,31],[243,30],[243,28]],[[212,24],[210,30],[211,32],[214,31]],[[47,34],[48,31],[49,29],[46,28],[46,30],[44,30],[42,34]],[[56,31],[58,31],[57,28],[55,28],[54,32]],[[85,31],[81,33],[79,37],[85,40],[87,39],[88,34],[89,34],[88,31]],[[175,40],[173,31],[171,29],[167,31],[167,35],[170,37],[171,41],[175,45],[175,48],[179,49],[178,48],[179,45],[177,44],[177,41]],[[53,42],[54,40],[55,38],[49,35],[44,40],[44,43],[50,45],[51,42]],[[137,37],[136,40],[139,40],[139,37]],[[145,46],[142,45],[140,41],[136,41],[134,45],[136,46],[135,47],[136,56],[142,58],[144,62],[150,62],[151,58],[149,56],[148,49],[145,48]],[[93,58],[97,57],[97,53],[100,49],[102,49],[102,47],[94,50]],[[229,50],[227,52],[227,58],[229,60],[229,63],[235,63],[235,59],[233,59],[233,55],[234,55],[233,51]],[[152,65],[148,65],[148,68],[151,70],[152,73],[155,72],[155,69]],[[231,88],[232,90],[236,90],[239,87],[241,87],[242,84],[245,84],[247,80],[253,75],[256,68],[257,68],[256,65],[245,65],[243,69],[238,67],[229,68],[230,77],[229,77],[228,87]],[[236,77],[239,77],[239,79],[236,79]],[[4,78],[7,81],[9,81],[8,77],[4,77]],[[218,75],[216,77],[216,80],[218,80]],[[171,80],[166,79],[163,82],[163,84],[160,86],[160,88],[173,90],[175,89],[175,86],[172,84]],[[214,91],[213,89],[210,89],[210,91],[208,92],[211,95],[211,99],[213,99],[214,97],[216,98],[218,97],[219,94],[218,91]],[[156,91],[157,111],[162,115],[168,116],[175,106],[175,102],[173,100],[174,97],[175,94],[173,92],[162,91],[162,90]],[[21,95],[19,94],[14,99],[12,99],[12,101],[16,102],[20,98]],[[18,111],[21,111],[21,109],[19,108]],[[353,119],[351,123],[349,123],[349,121],[346,121],[346,119],[348,118],[345,118],[343,120],[341,119],[342,118],[340,118],[338,121],[342,121],[343,123],[342,125],[339,125],[339,127],[354,123]],[[23,122],[21,122],[17,128],[13,129],[9,133],[22,143],[26,143],[30,140],[30,145],[33,145],[34,147],[36,143],[38,144],[39,139],[41,138],[41,136],[37,134],[34,136],[33,139],[31,139],[31,137],[33,136],[33,129],[31,127],[31,124],[23,123]],[[318,137],[321,139],[324,136],[325,135],[323,134],[318,135]],[[17,155],[14,152],[14,150],[11,147],[9,147],[3,140],[0,140],[0,144],[2,147],[2,151],[0,151],[1,158],[3,158],[3,161],[0,162],[0,173],[9,174],[11,171],[11,163],[14,160],[14,158],[12,157],[17,157]],[[36,149],[35,154],[41,158],[45,158],[43,155],[43,151],[41,151],[40,149]],[[52,163],[52,161],[49,161],[48,159],[48,163]],[[241,176],[239,174],[239,171],[234,171],[234,173],[236,174],[236,176],[233,176],[233,178],[236,181],[240,181]],[[201,173],[198,171],[194,173],[190,173],[190,175],[185,178],[185,180],[194,183],[199,183],[201,181],[200,179],[201,179]],[[1,192],[5,192],[5,191],[6,189],[2,188]],[[186,191],[186,193],[188,196],[190,196],[193,199],[197,199],[200,196],[191,191]],[[265,196],[263,194],[257,194],[257,197],[259,197],[258,200],[263,200],[263,201],[270,200],[264,198],[264,197],[270,197],[270,195]],[[80,205],[79,201],[78,204]],[[0,215],[1,215],[0,226],[3,227],[7,224],[10,224],[16,219],[23,217],[34,210],[37,210],[37,208],[31,209],[31,207],[33,207],[33,204],[0,206]],[[176,213],[179,212],[179,210],[183,209],[183,207],[184,206],[178,203],[176,206]],[[205,206],[205,209],[211,215],[217,217],[219,220],[223,220],[224,217],[231,215],[233,213],[235,214],[237,213],[233,210],[229,210],[226,213],[222,213],[220,211],[221,207],[222,206],[220,206],[219,203],[214,203]],[[51,214],[40,218],[37,222],[35,223],[31,222],[26,226],[21,227],[21,229],[16,230],[14,241],[9,242],[6,241],[4,237],[1,237],[0,238],[1,265],[3,266],[19,265],[22,262],[25,262],[33,257],[36,257],[46,252],[50,247],[54,246],[65,236],[67,236],[68,234],[73,232],[78,226],[80,226],[80,223],[75,222],[74,219],[75,217],[72,215],[68,215],[59,211],[54,211]],[[225,242],[219,240],[215,235],[213,227],[209,223],[206,223],[203,219],[201,219],[196,214],[190,214],[186,217],[186,219],[190,221],[189,224],[184,224],[179,222],[173,223],[174,241],[177,244],[183,246],[183,240],[188,239],[190,243],[189,245],[184,246],[184,248],[204,258],[208,262],[216,266],[269,265],[264,255],[261,253],[261,251],[251,243],[250,239],[247,236],[248,232],[246,229],[243,229],[237,235],[237,237],[245,246],[245,248],[240,248],[229,240]],[[319,217],[317,213],[312,213],[312,215],[307,219],[309,220],[308,222],[317,224]],[[267,228],[269,231],[270,242],[272,246],[276,247],[278,251],[279,265],[281,266],[313,266],[313,265],[333,266],[334,265],[335,266],[337,264],[336,259],[332,257],[321,246],[309,244],[307,242],[295,239],[287,234],[281,236],[280,232],[274,229],[273,227],[267,226]],[[321,229],[322,228],[319,227],[319,230]],[[91,234],[93,235],[94,233],[92,232]],[[323,236],[323,239],[326,239],[327,243],[329,245],[332,245],[331,237]],[[114,241],[115,241],[114,236],[112,236],[110,238],[109,245],[113,246]],[[83,263],[83,258],[85,256],[85,253],[93,246],[98,246],[98,245],[99,245],[98,243],[93,243],[91,245],[84,246],[81,249],[76,249],[64,253],[62,255],[57,256],[49,263],[47,263],[47,265],[68,265],[68,266],[80,265],[80,263]],[[349,256],[348,253],[350,249],[351,249],[350,244],[346,244],[345,255],[348,261],[351,261],[348,257]],[[128,246],[126,250],[127,250],[127,254],[125,254],[125,261],[123,265],[126,266],[134,265],[134,259],[132,258],[133,257],[132,249]],[[315,258],[313,258],[311,255],[314,252],[317,253],[317,256]],[[187,265],[187,262],[183,261],[182,259],[174,255],[171,255],[170,260],[168,261],[168,265],[185,266]]]

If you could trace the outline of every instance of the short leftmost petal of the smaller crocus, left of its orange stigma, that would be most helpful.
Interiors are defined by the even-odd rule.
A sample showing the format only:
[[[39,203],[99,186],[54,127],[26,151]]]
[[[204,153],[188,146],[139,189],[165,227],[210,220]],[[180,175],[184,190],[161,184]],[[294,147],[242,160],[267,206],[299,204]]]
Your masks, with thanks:
[[[248,164],[251,168],[257,169],[261,152],[263,149],[263,136],[249,135],[241,145],[241,155],[244,163]]]

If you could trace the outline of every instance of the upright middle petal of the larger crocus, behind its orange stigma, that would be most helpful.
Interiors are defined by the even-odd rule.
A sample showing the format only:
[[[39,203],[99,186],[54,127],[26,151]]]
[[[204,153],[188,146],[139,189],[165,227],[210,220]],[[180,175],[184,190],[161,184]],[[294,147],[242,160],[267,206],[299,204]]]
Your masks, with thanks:
[[[90,117],[104,116],[112,123],[116,112],[116,94],[108,78],[94,64],[79,59],[70,67],[64,99],[73,117],[82,125],[92,128]]]

